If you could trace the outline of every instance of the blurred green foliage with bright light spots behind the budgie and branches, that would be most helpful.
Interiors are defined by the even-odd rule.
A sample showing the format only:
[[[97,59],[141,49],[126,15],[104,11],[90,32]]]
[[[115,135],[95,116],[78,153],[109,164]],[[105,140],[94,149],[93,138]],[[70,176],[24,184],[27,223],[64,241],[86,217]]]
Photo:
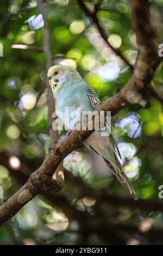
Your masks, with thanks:
[[[93,8],[96,2],[85,1],[89,8]],[[134,64],[137,44],[128,1],[101,2],[97,13],[101,27],[108,35],[109,42],[120,48],[123,55]],[[161,43],[163,1],[150,2],[155,40]],[[43,28],[32,31],[28,23],[24,23],[31,16],[39,14],[36,1],[1,0],[0,3],[0,49],[3,47],[3,57],[0,57],[0,152],[5,153],[10,161],[9,168],[5,168],[0,159],[0,185],[3,186],[4,197],[9,197],[22,185],[12,172],[22,172],[28,176],[39,167],[50,143],[46,92],[35,107],[36,96],[45,81],[45,56],[40,51],[12,46],[43,46]],[[69,0],[67,5],[63,3],[62,0],[45,1],[51,54],[53,57],[59,54],[67,57],[53,62],[75,66],[84,80],[96,90],[101,101],[104,101],[126,84],[131,71],[109,52],[103,41],[97,41],[97,31],[92,21],[78,7],[77,1]],[[152,87],[163,97],[162,78],[163,67],[160,65]],[[133,113],[137,120],[135,125],[120,125],[121,120],[130,118]],[[140,132],[137,136],[129,136],[130,129],[136,132],[137,124],[140,125]],[[125,170],[133,180],[138,198],[161,201],[158,198],[158,187],[163,180],[161,103],[152,99],[149,108],[129,106],[123,109],[112,120],[112,132],[117,143],[126,143],[123,144],[125,147],[122,152],[123,160],[127,161]],[[11,159],[11,156],[16,158]],[[96,166],[95,158],[91,160],[86,149],[79,150],[79,153],[66,159],[64,167],[77,178],[78,175],[82,176],[85,186],[97,191],[104,190],[113,178],[103,164],[100,168]],[[156,231],[153,241],[150,236],[153,229],[162,228],[161,213],[135,211],[131,208],[117,209],[105,202],[94,205],[93,199],[89,201],[88,198],[84,200],[80,197],[79,191],[82,188],[75,185],[75,180],[74,183],[70,182],[68,175],[66,172],[64,189],[56,196],[63,201],[53,205],[43,197],[33,199],[9,224],[0,228],[1,244],[161,243],[161,237]],[[127,196],[118,181],[114,181],[109,193]],[[70,216],[66,215],[66,204],[72,209]],[[73,211],[77,211],[77,216],[74,216]],[[14,230],[15,237],[10,229]],[[139,235],[134,235],[136,230],[139,230]]]

